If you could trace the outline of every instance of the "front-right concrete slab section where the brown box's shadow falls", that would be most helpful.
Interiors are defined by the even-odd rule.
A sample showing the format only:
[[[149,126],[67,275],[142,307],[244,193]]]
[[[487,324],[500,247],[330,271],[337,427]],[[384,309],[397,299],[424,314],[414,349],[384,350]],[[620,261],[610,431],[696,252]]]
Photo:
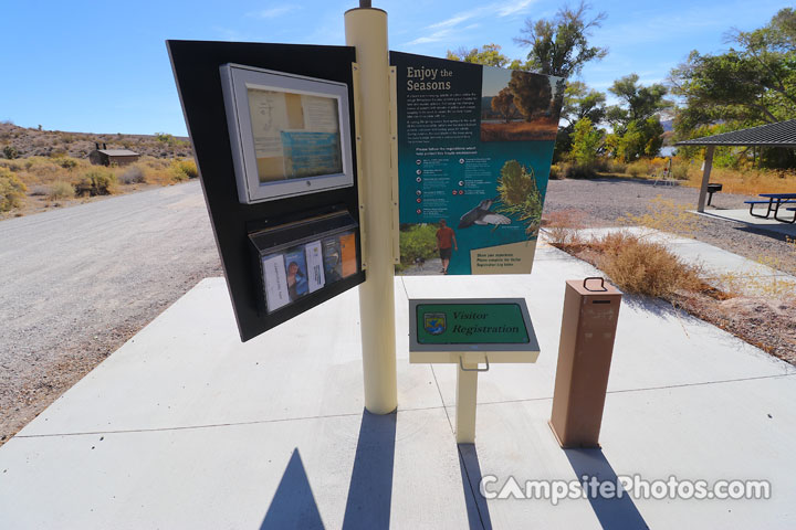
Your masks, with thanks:
[[[739,400],[742,394],[744,400]],[[495,476],[495,491],[509,477],[575,480],[583,474],[638,475],[645,480],[768,480],[771,499],[694,500],[582,499],[553,506],[541,499],[492,499],[495,528],[534,521],[538,528],[793,528],[796,455],[796,378],[726,382],[654,391],[609,393],[603,451],[562,451],[545,423],[552,402],[527,401],[478,407],[475,447],[482,476]],[[732,413],[727,413],[732,409]],[[768,417],[771,414],[772,417]],[[584,458],[586,457],[586,458]],[[585,505],[585,506],[584,506]],[[614,506],[611,506],[614,505]],[[586,509],[584,509],[586,508]]]

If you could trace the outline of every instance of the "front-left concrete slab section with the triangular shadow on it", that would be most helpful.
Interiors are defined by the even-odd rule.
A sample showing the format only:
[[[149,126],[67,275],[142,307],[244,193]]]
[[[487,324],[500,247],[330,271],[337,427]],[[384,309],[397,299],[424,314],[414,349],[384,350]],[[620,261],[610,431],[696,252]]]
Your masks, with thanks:
[[[444,411],[376,417],[394,423],[391,436],[368,433],[359,413],[15,437],[0,452],[2,526],[290,528],[281,523],[313,521],[307,512],[315,512],[329,529],[386,528],[368,522],[390,519],[394,528],[467,527],[469,488]],[[389,474],[367,473],[380,469],[379,462]],[[303,489],[311,491],[310,506],[285,506]]]

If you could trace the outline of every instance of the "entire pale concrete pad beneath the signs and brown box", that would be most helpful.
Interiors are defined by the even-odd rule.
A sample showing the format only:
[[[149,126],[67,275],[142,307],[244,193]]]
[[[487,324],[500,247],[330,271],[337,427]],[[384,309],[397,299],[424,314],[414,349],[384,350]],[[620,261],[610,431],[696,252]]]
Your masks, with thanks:
[[[662,303],[626,297],[601,451],[547,426],[564,280],[396,278],[397,414],[363,413],[356,289],[241,344],[202,280],[0,447],[3,528],[794,528],[796,369]],[[479,378],[454,443],[455,367],[408,363],[408,298],[525,297],[542,354]],[[526,480],[765,479],[767,500],[492,499]],[[291,524],[294,523],[294,524]]]

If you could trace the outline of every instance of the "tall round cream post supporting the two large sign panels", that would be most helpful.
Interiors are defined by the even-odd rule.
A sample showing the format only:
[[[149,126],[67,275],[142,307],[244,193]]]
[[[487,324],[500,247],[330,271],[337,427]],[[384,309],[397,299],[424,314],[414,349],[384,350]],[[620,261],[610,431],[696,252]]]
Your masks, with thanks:
[[[398,406],[396,382],[392,183],[390,182],[390,86],[387,13],[359,8],[345,13],[346,44],[356,47],[359,68],[357,147],[367,232],[367,280],[359,286],[365,409],[388,414]]]

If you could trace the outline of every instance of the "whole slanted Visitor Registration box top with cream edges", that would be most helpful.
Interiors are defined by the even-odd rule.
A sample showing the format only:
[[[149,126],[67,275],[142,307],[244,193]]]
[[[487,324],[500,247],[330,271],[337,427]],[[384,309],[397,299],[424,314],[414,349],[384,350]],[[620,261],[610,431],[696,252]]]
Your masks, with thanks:
[[[458,362],[465,352],[489,353],[490,362],[534,362],[538,342],[525,300],[409,300],[411,362]]]

